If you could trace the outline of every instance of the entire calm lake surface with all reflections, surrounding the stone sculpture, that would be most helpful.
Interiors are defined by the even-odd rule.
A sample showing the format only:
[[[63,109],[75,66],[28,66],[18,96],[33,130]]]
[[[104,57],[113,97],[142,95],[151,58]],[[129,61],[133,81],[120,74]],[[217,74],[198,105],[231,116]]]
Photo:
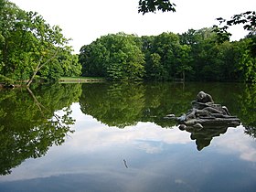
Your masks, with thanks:
[[[238,127],[165,120],[198,91]],[[256,190],[256,88],[237,83],[55,84],[0,91],[0,191]]]

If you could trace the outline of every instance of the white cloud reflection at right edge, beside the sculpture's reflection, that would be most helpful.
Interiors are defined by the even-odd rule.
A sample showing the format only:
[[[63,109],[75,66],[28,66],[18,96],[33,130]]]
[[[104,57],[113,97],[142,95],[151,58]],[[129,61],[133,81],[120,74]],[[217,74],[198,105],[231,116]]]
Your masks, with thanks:
[[[243,160],[256,162],[255,141],[244,133],[243,126],[229,128],[228,132],[222,135],[222,137],[225,138],[216,138],[215,144],[219,146],[223,153],[236,153]]]

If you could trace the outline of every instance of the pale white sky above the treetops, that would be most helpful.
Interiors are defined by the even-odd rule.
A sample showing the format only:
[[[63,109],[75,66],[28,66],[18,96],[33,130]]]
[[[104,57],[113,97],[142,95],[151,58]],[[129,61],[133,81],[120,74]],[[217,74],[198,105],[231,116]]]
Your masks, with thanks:
[[[118,32],[141,36],[163,32],[184,33],[217,25],[216,18],[255,10],[255,0],[173,0],[176,12],[138,13],[139,0],[10,0],[21,9],[43,16],[51,26],[59,26],[76,53],[96,38]],[[246,35],[242,27],[229,30],[231,40]]]

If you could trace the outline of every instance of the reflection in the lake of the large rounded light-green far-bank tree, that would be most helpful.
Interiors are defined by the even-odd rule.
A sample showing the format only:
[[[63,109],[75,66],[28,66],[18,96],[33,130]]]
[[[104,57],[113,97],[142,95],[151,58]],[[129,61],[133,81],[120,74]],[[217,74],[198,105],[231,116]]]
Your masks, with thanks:
[[[81,111],[101,123],[123,128],[140,121],[144,86],[133,83],[84,84]]]

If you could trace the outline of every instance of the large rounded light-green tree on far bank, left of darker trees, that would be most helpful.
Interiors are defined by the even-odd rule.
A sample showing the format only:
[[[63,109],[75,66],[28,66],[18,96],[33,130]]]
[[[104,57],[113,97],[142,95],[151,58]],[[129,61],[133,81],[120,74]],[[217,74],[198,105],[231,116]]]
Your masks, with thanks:
[[[80,49],[83,76],[109,80],[140,80],[144,77],[144,54],[137,37],[124,33],[98,38]]]

